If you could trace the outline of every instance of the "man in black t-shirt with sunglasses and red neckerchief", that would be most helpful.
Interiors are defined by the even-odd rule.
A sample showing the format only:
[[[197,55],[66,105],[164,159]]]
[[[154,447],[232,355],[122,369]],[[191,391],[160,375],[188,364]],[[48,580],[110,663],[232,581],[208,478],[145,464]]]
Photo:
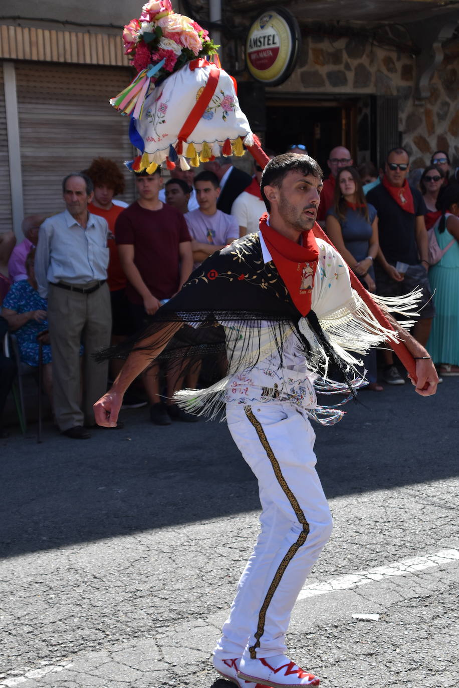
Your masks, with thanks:
[[[427,208],[420,191],[409,186],[408,173],[407,151],[394,148],[387,154],[381,184],[367,193],[367,202],[376,208],[379,219],[379,252],[374,266],[376,293],[397,297],[422,288],[420,318],[414,325],[413,336],[426,345],[435,315],[427,277],[429,248],[424,222]],[[385,382],[403,385],[405,380],[394,365],[392,352],[384,350],[383,356]]]

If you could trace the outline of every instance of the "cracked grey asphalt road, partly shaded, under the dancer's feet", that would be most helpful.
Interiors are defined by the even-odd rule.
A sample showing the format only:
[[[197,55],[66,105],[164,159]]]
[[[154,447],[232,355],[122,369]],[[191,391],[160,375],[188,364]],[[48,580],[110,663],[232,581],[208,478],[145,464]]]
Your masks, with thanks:
[[[324,688],[458,688],[459,379],[434,398],[405,385],[359,400],[315,428],[334,533],[292,614],[290,656]],[[124,418],[87,441],[47,429],[43,444],[0,442],[1,687],[217,679],[256,483],[224,424]]]

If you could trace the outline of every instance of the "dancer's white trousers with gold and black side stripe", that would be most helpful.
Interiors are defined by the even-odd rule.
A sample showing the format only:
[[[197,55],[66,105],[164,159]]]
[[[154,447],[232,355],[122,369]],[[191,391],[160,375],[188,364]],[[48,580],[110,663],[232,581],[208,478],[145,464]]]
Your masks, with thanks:
[[[227,404],[233,440],[257,476],[261,532],[239,580],[215,654],[222,659],[285,654],[293,605],[332,517],[314,468],[315,434],[290,404]]]

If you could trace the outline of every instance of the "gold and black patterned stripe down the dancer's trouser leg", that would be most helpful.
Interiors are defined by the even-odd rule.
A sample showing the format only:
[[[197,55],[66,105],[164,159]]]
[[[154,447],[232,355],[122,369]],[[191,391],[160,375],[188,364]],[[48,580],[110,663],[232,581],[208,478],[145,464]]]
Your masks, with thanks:
[[[299,537],[297,541],[290,546],[288,549],[288,552],[286,553],[284,559],[282,559],[281,563],[279,564],[277,571],[275,572],[275,576],[273,578],[273,581],[270,583],[270,586],[268,588],[268,592],[266,592],[265,599],[263,601],[263,604],[261,605],[261,609],[259,611],[259,616],[258,616],[258,625],[257,625],[257,632],[255,633],[255,638],[257,638],[257,641],[255,645],[252,647],[249,647],[249,652],[250,652],[250,657],[252,659],[257,658],[257,647],[260,646],[260,638],[264,633],[264,623],[266,619],[266,611],[268,610],[268,606],[270,604],[270,601],[273,599],[273,595],[276,591],[277,586],[279,585],[281,578],[284,574],[284,571],[286,570],[288,563],[292,560],[292,557],[295,555],[295,552],[299,550],[301,545],[303,545],[306,541],[306,537],[308,537],[309,533],[309,524],[306,521],[306,517],[303,514],[303,511],[301,510],[297,498],[295,495],[292,493],[290,490],[288,484],[286,483],[286,480],[284,479],[284,476],[281,473],[281,467],[279,466],[279,462],[277,461],[277,458],[274,455],[273,449],[271,449],[270,444],[268,442],[268,439],[266,438],[266,435],[264,433],[263,427],[261,426],[261,423],[255,418],[253,415],[253,411],[250,408],[250,406],[245,407],[245,412],[248,420],[250,423],[253,425],[255,428],[255,431],[257,433],[257,436],[259,438],[259,441],[261,442],[261,445],[263,446],[264,450],[266,451],[266,455],[268,456],[268,459],[270,460],[271,466],[273,466],[273,471],[275,473],[277,482],[282,488],[282,491],[284,491],[284,494],[286,495],[288,501],[290,502],[292,509],[295,511],[295,515],[301,524],[303,526],[303,530],[301,530],[301,533],[299,534]]]

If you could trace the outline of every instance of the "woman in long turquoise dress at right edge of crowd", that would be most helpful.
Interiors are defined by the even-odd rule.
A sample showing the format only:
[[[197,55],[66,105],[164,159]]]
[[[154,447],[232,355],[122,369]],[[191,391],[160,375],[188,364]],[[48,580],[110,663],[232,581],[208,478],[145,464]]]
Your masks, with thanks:
[[[427,346],[440,375],[459,375],[459,184],[442,191],[437,207],[441,217],[434,232],[445,252],[429,270],[437,315]]]

